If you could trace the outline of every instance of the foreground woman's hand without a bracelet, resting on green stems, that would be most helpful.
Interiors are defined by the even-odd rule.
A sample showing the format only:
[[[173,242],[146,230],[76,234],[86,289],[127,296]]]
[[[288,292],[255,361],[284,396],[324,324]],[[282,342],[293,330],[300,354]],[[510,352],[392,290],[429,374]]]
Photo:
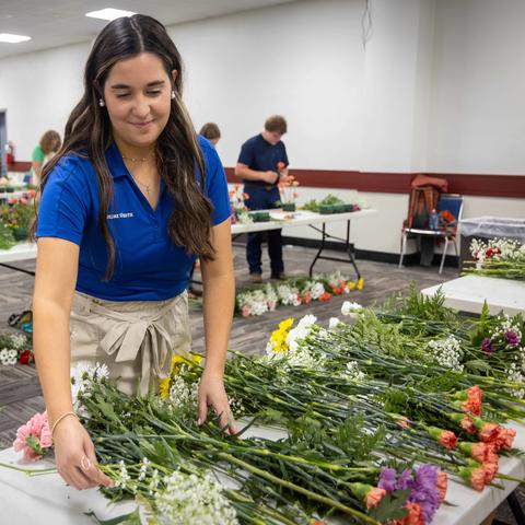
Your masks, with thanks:
[[[202,424],[208,417],[208,407],[212,407],[219,418],[221,429],[230,434],[237,433],[237,424],[233,419],[228,400],[222,375],[214,374],[205,369],[199,384],[199,419],[197,424]]]

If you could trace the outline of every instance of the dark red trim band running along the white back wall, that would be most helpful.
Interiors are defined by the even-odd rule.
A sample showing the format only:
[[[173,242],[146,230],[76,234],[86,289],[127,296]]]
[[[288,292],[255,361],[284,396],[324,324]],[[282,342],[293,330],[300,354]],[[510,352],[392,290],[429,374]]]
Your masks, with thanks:
[[[226,167],[229,183],[238,183],[233,167]],[[357,189],[378,194],[408,194],[417,173],[346,172],[335,170],[290,170],[301,186],[312,188]],[[448,192],[477,197],[525,198],[525,175],[475,175],[424,173],[448,180]]]

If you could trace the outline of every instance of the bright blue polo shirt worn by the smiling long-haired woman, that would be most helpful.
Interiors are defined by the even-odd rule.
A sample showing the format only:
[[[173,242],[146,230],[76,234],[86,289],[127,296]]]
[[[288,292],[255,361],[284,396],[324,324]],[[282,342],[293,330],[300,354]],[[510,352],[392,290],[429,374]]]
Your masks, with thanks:
[[[205,194],[213,206],[211,223],[230,219],[226,177],[215,149],[199,137],[206,163]],[[106,151],[114,199],[107,223],[115,240],[115,271],[104,281],[107,254],[98,228],[98,187],[92,162],[69,155],[59,161],[44,188],[37,237],[59,237],[80,246],[77,290],[108,301],[163,301],[182,293],[195,260],[168,236],[175,207],[161,179],[156,208],[150,206],[129,174],[118,148]],[[199,175],[198,175],[198,178]]]

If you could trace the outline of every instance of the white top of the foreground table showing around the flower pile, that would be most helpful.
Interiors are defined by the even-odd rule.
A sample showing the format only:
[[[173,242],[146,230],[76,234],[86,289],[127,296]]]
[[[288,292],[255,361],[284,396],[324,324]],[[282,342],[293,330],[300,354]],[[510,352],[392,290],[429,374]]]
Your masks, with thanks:
[[[514,446],[525,450],[525,425],[511,423],[517,431]],[[282,431],[250,428],[246,436],[279,439]],[[54,464],[44,459],[37,464],[25,464],[21,454],[12,448],[0,452],[0,463],[22,468],[49,468]],[[501,457],[500,472],[523,479],[525,460],[518,457]],[[432,525],[479,525],[493,512],[514,489],[516,481],[497,480],[502,489],[486,487],[477,492],[464,485],[450,480],[446,502],[441,505]],[[93,521],[86,513],[95,512],[98,518],[109,520],[133,511],[132,501],[113,504],[97,489],[77,491],[65,485],[58,474],[27,477],[23,472],[0,467],[0,523],[9,525],[89,525]],[[343,516],[328,520],[329,524],[345,525]]]

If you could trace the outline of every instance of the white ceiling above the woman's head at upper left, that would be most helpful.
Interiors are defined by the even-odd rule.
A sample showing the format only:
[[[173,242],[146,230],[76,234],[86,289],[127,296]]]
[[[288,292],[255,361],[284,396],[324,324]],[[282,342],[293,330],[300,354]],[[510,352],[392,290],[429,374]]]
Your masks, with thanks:
[[[164,25],[266,8],[294,0],[0,0],[0,33],[31,36],[0,43],[0,58],[91,42],[107,21],[85,13],[104,8],[150,14]]]

